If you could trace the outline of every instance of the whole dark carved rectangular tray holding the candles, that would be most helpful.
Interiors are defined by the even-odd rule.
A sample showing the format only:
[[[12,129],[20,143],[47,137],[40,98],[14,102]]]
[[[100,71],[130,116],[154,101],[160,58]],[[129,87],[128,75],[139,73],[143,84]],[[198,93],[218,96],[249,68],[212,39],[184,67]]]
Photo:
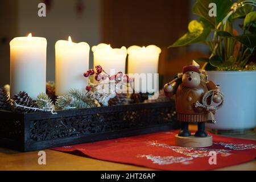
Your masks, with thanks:
[[[179,128],[174,101],[92,109],[57,114],[0,111],[0,147],[41,150]]]

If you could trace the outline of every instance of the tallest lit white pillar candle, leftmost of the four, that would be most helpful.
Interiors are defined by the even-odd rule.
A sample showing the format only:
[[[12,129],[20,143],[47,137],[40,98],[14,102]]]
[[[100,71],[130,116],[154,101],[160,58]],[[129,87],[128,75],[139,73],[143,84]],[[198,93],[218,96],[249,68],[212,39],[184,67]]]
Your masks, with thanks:
[[[10,91],[11,96],[25,91],[36,100],[46,92],[46,38],[14,38],[10,42]]]

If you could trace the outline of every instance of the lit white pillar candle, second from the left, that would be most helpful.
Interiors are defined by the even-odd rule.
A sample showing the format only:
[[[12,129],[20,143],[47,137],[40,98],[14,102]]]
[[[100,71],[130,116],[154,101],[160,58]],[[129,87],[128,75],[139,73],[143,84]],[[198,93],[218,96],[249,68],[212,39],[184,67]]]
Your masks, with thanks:
[[[85,89],[88,78],[83,73],[89,69],[88,43],[73,43],[58,40],[55,44],[55,92],[57,96],[65,95],[71,89]]]

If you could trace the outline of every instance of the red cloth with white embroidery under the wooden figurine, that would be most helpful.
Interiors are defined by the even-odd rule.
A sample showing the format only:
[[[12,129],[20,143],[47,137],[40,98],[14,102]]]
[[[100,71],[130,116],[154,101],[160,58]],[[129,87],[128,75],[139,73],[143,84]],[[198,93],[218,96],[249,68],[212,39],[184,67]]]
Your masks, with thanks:
[[[93,143],[52,148],[90,158],[134,164],[162,170],[210,170],[245,163],[256,158],[256,140],[213,135],[213,146],[189,148],[174,146],[177,130],[138,135]],[[209,164],[209,159],[216,163]],[[210,158],[212,156],[212,158]]]

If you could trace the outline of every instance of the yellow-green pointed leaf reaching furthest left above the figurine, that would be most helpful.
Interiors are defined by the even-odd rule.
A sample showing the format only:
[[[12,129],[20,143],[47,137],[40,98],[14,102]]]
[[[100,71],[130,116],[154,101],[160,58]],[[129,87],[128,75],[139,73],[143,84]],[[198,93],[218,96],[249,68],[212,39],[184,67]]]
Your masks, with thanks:
[[[179,47],[179,46],[186,46],[188,44],[193,44],[197,42],[202,42],[207,39],[207,36],[210,33],[210,28],[204,28],[203,24],[197,22],[196,20],[192,20],[188,24],[189,32],[179,38],[174,44],[170,47]]]

